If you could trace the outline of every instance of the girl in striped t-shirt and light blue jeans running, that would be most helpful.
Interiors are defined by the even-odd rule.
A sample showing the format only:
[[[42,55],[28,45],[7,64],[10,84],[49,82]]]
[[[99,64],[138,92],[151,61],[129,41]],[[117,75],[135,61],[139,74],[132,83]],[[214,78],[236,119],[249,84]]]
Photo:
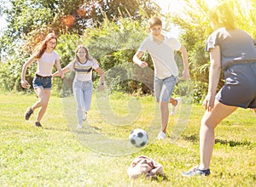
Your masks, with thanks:
[[[83,128],[83,121],[87,118],[87,112],[90,110],[92,98],[92,70],[95,70],[101,77],[99,89],[104,89],[104,73],[97,64],[96,59],[90,59],[87,48],[79,46],[76,49],[75,59],[62,69],[63,73],[75,71],[73,80],[73,93],[77,102],[78,128]],[[55,72],[53,77],[59,76],[59,72]]]

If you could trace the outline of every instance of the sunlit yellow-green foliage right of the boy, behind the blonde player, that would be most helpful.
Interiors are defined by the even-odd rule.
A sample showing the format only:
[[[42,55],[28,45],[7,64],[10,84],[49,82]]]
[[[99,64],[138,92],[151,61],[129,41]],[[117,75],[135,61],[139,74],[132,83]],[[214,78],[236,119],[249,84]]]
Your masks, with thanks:
[[[182,29],[180,41],[187,48],[189,54],[189,69],[191,78],[195,81],[195,93],[205,95],[208,82],[208,68],[210,65],[209,54],[205,49],[207,37],[211,34],[212,28],[208,17],[209,7],[205,1],[185,0],[184,8],[177,14],[167,14],[172,23]],[[256,19],[253,16],[256,3],[253,0],[224,0],[234,9],[236,26],[250,33],[256,38]],[[220,88],[224,84],[221,79],[218,85]],[[200,92],[198,92],[201,90]],[[198,95],[196,94],[196,95]],[[199,102],[201,96],[195,95],[195,101]],[[197,98],[199,97],[199,98]]]

